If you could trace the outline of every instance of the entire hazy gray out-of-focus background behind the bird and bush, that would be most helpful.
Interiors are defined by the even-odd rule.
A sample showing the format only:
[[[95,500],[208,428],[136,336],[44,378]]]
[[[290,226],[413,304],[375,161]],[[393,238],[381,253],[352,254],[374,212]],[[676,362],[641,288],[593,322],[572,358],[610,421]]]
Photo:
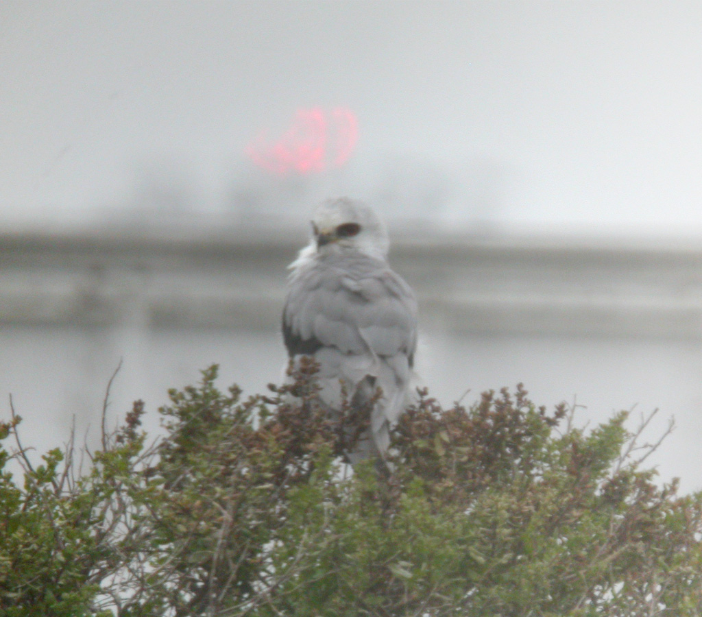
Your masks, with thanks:
[[[0,4],[0,418],[98,437],[212,363],[277,382],[286,265],[369,201],[444,404],[661,409],[702,488],[696,1]],[[84,435],[87,434],[87,437]]]

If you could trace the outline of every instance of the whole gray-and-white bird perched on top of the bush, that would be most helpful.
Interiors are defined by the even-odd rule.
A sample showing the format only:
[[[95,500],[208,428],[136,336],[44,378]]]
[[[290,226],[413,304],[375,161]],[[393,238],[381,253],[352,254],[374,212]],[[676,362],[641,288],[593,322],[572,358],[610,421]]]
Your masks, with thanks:
[[[370,206],[327,199],[314,208],[310,244],[289,265],[282,314],[289,359],[317,361],[317,396],[334,417],[343,397],[352,411],[373,405],[367,428],[345,452],[352,465],[385,460],[413,383],[417,301],[388,265],[389,248]]]

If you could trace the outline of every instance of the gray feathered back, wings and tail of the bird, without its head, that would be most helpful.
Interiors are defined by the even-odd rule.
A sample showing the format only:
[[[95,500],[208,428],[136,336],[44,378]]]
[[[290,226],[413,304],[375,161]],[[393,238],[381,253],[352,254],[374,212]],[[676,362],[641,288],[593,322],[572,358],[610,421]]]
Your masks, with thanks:
[[[291,278],[283,312],[285,344],[291,357],[309,354],[319,361],[322,399],[338,408],[341,382],[359,401],[372,396],[376,386],[383,390],[371,413],[370,434],[349,453],[352,463],[388,449],[390,425],[406,403],[416,315],[411,288],[380,260],[315,260]]]

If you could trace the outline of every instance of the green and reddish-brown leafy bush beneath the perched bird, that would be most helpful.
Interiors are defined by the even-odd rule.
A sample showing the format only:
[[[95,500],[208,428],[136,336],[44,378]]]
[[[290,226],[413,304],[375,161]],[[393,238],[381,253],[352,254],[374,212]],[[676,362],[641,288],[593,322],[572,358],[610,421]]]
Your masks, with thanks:
[[[702,614],[702,497],[656,484],[626,413],[585,432],[521,386],[421,392],[392,470],[351,472],[312,364],[249,399],[216,375],[170,392],[154,443],[135,403],[85,472],[71,445],[0,452],[1,615]]]

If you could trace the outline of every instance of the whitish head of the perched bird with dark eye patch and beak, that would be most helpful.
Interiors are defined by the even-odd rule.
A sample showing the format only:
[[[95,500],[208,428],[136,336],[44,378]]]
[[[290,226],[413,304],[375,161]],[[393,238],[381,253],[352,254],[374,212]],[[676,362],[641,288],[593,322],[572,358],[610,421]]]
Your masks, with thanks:
[[[352,199],[330,199],[317,206],[312,230],[318,251],[333,250],[326,246],[345,246],[383,258],[390,248],[388,233],[378,215]]]

